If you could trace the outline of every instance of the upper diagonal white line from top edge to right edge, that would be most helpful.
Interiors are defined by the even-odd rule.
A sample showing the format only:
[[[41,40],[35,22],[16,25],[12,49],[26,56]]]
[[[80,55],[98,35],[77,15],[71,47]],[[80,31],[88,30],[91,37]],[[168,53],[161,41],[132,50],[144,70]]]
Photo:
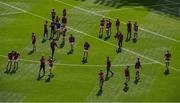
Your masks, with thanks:
[[[89,10],[87,10],[87,9],[84,9],[84,8],[81,8],[81,7],[78,7],[78,6],[73,6],[73,5],[71,5],[71,4],[65,3],[65,2],[60,1],[60,0],[55,0],[55,1],[56,1],[56,2],[61,2],[61,3],[65,4],[65,5],[67,5],[67,6],[70,6],[70,7],[76,8],[76,9],[79,9],[79,10],[84,11],[84,12],[86,12],[86,13],[91,13],[91,14],[94,14],[94,15],[96,15],[96,16],[106,17],[106,18],[115,20],[114,18],[111,18],[111,17],[105,16],[105,15],[99,14],[99,13],[94,12],[94,11],[89,11]],[[126,22],[124,22],[124,21],[121,21],[121,22],[122,22],[123,24],[126,24]],[[153,34],[153,35],[156,35],[156,36],[159,36],[159,37],[162,37],[162,38],[166,38],[166,39],[168,39],[168,40],[171,40],[171,41],[180,43],[180,40],[177,40],[177,39],[174,39],[174,38],[171,38],[171,37],[168,37],[168,36],[161,35],[161,34],[159,34],[159,33],[156,33],[156,32],[153,32],[153,31],[150,31],[150,30],[147,30],[147,29],[144,29],[144,28],[142,28],[142,27],[139,27],[139,29],[142,30],[142,31],[151,33],[151,34]]]

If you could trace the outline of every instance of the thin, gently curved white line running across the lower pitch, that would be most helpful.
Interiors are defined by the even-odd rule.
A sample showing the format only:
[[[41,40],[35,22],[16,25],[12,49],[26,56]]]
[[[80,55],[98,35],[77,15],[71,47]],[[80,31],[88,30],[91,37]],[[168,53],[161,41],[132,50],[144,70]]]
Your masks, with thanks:
[[[5,55],[0,55],[0,57],[7,58],[7,56]],[[19,59],[19,60],[24,62],[39,63],[39,61],[28,60],[28,59]],[[151,65],[151,64],[158,64],[158,63],[156,62],[142,63],[142,65]],[[106,65],[83,65],[83,64],[61,64],[61,63],[54,63],[54,65],[70,66],[70,67],[106,67]],[[124,67],[127,65],[134,66],[135,64],[112,65],[112,67]]]

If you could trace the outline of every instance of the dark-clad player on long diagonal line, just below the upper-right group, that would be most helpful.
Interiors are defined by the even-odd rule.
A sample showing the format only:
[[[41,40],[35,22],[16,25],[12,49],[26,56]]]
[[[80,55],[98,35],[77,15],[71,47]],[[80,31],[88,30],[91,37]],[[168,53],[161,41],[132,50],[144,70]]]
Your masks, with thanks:
[[[118,32],[116,34],[116,38],[118,40],[118,49],[117,49],[117,53],[122,51],[122,44],[123,44],[123,34],[121,32]]]

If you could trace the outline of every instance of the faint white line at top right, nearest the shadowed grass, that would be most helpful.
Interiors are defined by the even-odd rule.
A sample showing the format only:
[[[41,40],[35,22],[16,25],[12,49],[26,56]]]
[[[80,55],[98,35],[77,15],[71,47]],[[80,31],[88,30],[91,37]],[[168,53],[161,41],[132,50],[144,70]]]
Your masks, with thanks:
[[[158,6],[168,6],[168,5],[179,5],[180,3],[175,3],[175,4],[159,4],[159,5],[151,5],[147,7],[158,7]],[[108,9],[108,10],[99,10],[96,12],[111,12],[111,11],[122,11],[122,10],[127,10],[127,9],[136,9],[136,8],[144,8],[144,6],[135,6],[135,7],[125,7],[125,8],[120,8],[120,9]]]

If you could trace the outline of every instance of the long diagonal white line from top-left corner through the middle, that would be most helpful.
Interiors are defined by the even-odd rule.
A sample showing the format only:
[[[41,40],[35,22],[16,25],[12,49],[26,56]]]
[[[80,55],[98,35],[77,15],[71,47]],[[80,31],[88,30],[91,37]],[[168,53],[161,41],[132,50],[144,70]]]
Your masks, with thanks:
[[[11,8],[14,8],[14,9],[17,9],[17,10],[20,10],[20,11],[23,11],[23,12],[29,14],[29,15],[32,15],[32,16],[35,16],[35,17],[38,17],[38,18],[41,18],[41,19],[43,19],[43,20],[49,20],[49,21],[51,21],[50,19],[47,19],[47,18],[45,18],[45,17],[43,17],[43,16],[40,16],[40,15],[31,13],[31,12],[28,12],[28,11],[26,11],[26,10],[23,10],[23,9],[21,9],[21,8],[18,8],[18,7],[12,6],[12,5],[9,5],[9,4],[7,4],[7,3],[1,2],[1,1],[0,1],[0,3],[1,3],[1,4],[4,4],[4,5],[7,5],[7,6],[11,7]],[[73,30],[73,31],[75,31],[75,32],[81,33],[81,34],[83,34],[83,35],[89,36],[89,37],[91,37],[91,38],[94,38],[94,39],[96,39],[96,40],[102,41],[102,42],[104,42],[104,43],[106,43],[106,44],[109,44],[109,45],[111,45],[111,46],[118,47],[117,45],[115,45],[115,44],[113,44],[113,43],[106,42],[106,41],[104,41],[104,40],[102,40],[102,39],[99,39],[99,38],[97,38],[97,37],[91,36],[91,35],[89,35],[89,34],[87,34],[87,33],[82,32],[82,31],[73,29],[73,28],[71,28],[71,27],[67,27],[67,28],[69,28],[69,29],[71,29],[71,30]],[[147,60],[150,60],[150,61],[152,61],[152,62],[156,62],[156,63],[158,63],[158,64],[160,64],[160,65],[162,65],[162,66],[165,66],[165,64],[163,64],[163,63],[161,63],[161,62],[159,62],[159,61],[157,61],[157,60],[151,59],[151,58],[149,58],[149,57],[146,57],[146,56],[144,56],[144,55],[141,55],[141,54],[139,54],[139,53],[136,53],[136,52],[131,51],[131,50],[126,49],[126,48],[122,48],[122,49],[123,49],[124,51],[127,51],[127,52],[131,53],[131,54],[140,56],[140,57],[145,58],[145,59],[147,59]],[[173,70],[176,70],[176,71],[180,72],[180,69],[177,69],[177,68],[174,68],[174,67],[170,67],[170,68],[173,69]]]

